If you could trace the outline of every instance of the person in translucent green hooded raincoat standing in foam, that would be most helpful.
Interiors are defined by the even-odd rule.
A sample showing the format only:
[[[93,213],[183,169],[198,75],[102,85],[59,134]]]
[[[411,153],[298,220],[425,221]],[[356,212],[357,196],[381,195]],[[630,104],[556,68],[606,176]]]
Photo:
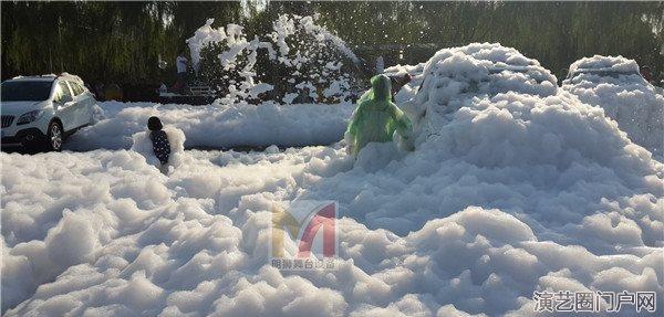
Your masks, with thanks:
[[[396,131],[409,139],[411,120],[392,103],[390,77],[376,75],[371,78],[371,89],[357,101],[357,108],[346,129],[349,152],[356,156],[369,142],[387,142]]]

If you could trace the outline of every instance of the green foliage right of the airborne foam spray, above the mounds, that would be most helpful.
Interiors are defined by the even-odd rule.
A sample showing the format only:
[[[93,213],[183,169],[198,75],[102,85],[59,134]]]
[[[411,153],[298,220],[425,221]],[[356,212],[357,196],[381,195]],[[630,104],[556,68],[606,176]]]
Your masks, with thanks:
[[[424,62],[440,47],[498,42],[533,57],[559,78],[571,63],[595,54],[623,55],[664,72],[664,2],[344,2],[314,3],[325,25],[386,64]],[[432,47],[417,43],[430,43]],[[413,45],[415,44],[415,45]]]

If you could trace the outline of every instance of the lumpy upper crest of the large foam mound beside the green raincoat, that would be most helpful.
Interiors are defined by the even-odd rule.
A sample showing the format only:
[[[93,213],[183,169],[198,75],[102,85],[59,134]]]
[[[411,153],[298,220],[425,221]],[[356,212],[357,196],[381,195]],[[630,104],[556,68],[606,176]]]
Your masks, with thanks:
[[[556,76],[538,61],[490,43],[440,50],[424,65],[421,76],[413,101],[403,105],[416,127],[458,109],[458,102],[465,98],[507,92],[551,96],[558,88]]]

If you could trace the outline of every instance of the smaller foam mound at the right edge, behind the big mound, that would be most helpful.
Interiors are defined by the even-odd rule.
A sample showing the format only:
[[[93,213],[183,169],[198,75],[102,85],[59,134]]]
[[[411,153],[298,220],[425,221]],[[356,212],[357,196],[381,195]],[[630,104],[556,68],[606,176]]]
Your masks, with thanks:
[[[570,66],[562,89],[583,103],[604,109],[635,144],[662,160],[664,156],[664,96],[622,56],[585,57]]]

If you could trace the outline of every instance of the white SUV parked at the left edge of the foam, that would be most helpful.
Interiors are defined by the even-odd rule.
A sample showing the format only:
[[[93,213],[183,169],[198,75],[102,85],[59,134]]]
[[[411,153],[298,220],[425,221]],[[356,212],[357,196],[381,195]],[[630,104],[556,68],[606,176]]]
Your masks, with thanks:
[[[65,137],[93,123],[96,101],[83,81],[66,73],[2,82],[2,147],[59,151]]]

